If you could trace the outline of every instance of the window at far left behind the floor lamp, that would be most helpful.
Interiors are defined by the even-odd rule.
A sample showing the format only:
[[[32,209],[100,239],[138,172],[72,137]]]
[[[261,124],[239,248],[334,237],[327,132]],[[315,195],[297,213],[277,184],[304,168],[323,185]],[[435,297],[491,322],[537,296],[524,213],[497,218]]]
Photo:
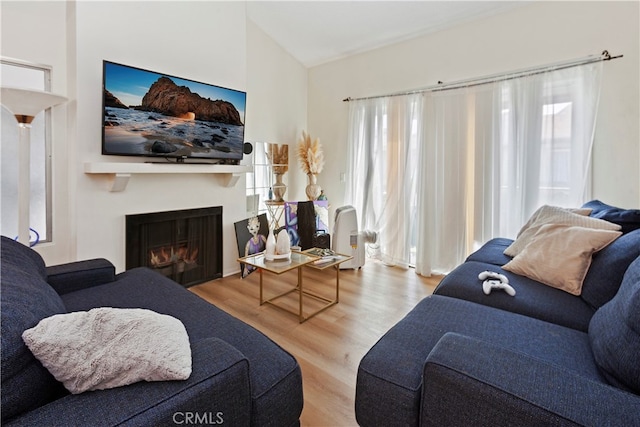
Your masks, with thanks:
[[[50,89],[51,69],[13,60],[0,60],[2,86],[26,89]],[[31,208],[29,225],[33,244],[51,240],[51,179],[50,179],[50,112],[38,114],[31,123]],[[0,233],[18,235],[18,128],[13,115],[2,108],[1,209]],[[36,234],[37,233],[37,234]]]

